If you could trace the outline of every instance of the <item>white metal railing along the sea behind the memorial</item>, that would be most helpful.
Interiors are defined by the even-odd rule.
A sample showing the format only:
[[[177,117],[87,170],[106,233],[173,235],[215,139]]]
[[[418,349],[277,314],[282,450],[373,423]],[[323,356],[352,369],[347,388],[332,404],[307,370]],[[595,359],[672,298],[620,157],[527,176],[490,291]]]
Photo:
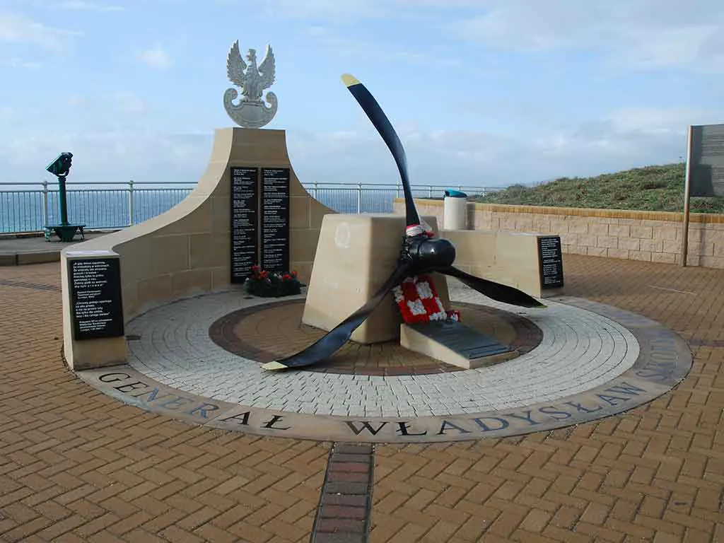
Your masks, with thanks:
[[[195,183],[129,181],[76,185],[69,182],[66,186],[68,219],[72,224],[85,224],[87,229],[115,229],[168,211],[188,196]],[[403,195],[399,183],[306,183],[303,187],[313,198],[338,213],[391,213],[395,198]],[[462,185],[416,185],[412,190],[415,198],[442,198],[448,188],[468,195],[500,190]],[[0,233],[41,232],[46,225],[59,222],[55,182],[0,185]]]

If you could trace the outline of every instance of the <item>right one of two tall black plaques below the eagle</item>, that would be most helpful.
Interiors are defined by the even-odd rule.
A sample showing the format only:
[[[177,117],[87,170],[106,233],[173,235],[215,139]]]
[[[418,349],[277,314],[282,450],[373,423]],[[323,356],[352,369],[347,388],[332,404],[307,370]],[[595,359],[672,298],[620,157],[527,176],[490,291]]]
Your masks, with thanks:
[[[261,267],[289,269],[289,168],[261,170]]]

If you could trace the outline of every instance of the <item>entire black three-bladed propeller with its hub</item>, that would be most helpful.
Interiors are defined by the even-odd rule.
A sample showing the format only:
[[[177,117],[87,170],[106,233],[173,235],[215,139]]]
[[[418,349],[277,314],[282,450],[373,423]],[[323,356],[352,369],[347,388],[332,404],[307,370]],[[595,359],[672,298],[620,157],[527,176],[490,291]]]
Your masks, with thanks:
[[[384,285],[375,292],[374,296],[368,300],[367,303],[348,316],[347,319],[308,348],[282,360],[266,363],[261,367],[268,370],[281,370],[311,366],[324,361],[324,359],[332,356],[350,339],[352,332],[354,332],[372,311],[374,311],[374,308],[382,302],[387,292],[390,292],[390,290],[403,282],[406,277],[417,274],[438,271],[439,273],[460,279],[460,281],[468,285],[468,287],[477,290],[493,300],[510,303],[513,306],[529,308],[545,307],[538,300],[521,290],[466,274],[464,271],[452,266],[455,262],[455,246],[450,243],[450,240],[435,236],[429,228],[426,228],[426,225],[421,224],[410,188],[405,149],[402,143],[400,143],[400,138],[397,137],[397,132],[395,132],[392,124],[390,124],[390,120],[387,119],[387,116],[379,104],[377,104],[374,96],[372,96],[369,90],[355,77],[348,74],[342,75],[342,82],[347,85],[352,96],[358,101],[358,104],[360,104],[367,114],[367,117],[369,117],[377,129],[379,135],[382,136],[384,143],[390,148],[392,157],[395,159],[395,164],[397,164],[397,169],[400,172],[405,194],[405,222],[407,224],[402,249],[400,251],[400,260],[397,264],[397,269],[392,271],[392,274],[387,281],[384,282]]]

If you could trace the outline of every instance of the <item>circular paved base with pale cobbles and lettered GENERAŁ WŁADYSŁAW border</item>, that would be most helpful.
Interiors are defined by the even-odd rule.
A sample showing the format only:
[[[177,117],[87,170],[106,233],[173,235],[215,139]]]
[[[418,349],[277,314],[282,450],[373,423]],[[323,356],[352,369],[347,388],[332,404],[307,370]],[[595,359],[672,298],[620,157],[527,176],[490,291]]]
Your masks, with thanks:
[[[528,310],[451,289],[463,322],[521,353],[447,371],[395,342],[341,350],[321,371],[261,369],[321,332],[303,298],[239,292],[181,300],[126,329],[128,364],[78,374],[104,392],[196,424],[310,439],[420,442],[523,434],[619,413],[670,390],[691,367],[673,332],[580,298]]]

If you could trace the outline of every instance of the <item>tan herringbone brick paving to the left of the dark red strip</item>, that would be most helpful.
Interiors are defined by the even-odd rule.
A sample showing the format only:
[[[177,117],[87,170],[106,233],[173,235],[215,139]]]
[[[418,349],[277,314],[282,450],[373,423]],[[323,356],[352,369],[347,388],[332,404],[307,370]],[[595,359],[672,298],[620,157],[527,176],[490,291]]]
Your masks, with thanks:
[[[60,362],[58,285],[58,264],[0,268],[0,541],[308,542],[329,444],[187,426],[88,387]]]

